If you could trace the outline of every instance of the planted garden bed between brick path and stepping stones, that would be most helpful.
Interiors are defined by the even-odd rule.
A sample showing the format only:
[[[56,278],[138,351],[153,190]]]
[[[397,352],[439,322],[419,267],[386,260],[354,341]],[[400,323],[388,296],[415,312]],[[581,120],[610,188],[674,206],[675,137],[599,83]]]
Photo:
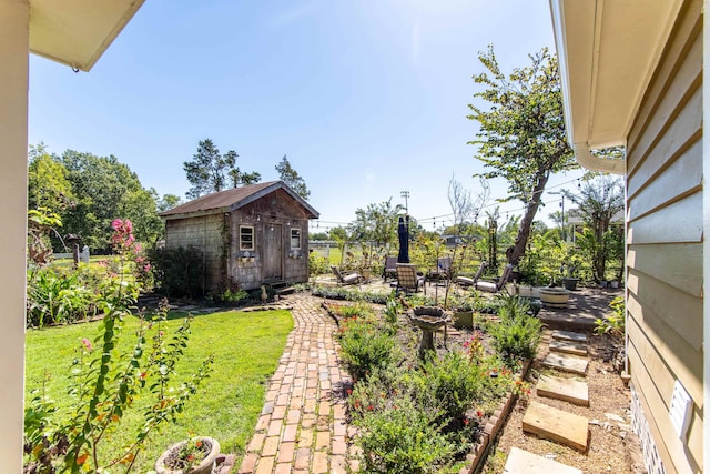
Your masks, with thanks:
[[[392,300],[383,309],[323,303],[341,327],[342,360],[356,381],[348,389],[348,406],[364,467],[375,472],[477,471],[516,396],[526,392],[521,381],[529,364],[506,354],[505,365],[497,353],[499,336],[481,330],[506,323],[489,314],[477,319],[476,330],[449,329],[446,337],[437,332],[435,351],[422,361],[417,355],[422,332],[410,324],[410,310],[395,311],[396,304]],[[372,315],[366,314],[367,309],[374,310]],[[373,331],[368,333],[367,327]],[[361,343],[372,346],[363,349]],[[422,433],[428,440],[419,445],[416,438]]]

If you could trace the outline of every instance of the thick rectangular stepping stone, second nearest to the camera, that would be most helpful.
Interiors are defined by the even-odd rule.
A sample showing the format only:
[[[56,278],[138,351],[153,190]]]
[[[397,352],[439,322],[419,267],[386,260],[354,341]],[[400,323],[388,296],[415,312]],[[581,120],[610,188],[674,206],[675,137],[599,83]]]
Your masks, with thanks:
[[[581,452],[587,451],[589,421],[574,413],[531,402],[523,418],[523,431]]]

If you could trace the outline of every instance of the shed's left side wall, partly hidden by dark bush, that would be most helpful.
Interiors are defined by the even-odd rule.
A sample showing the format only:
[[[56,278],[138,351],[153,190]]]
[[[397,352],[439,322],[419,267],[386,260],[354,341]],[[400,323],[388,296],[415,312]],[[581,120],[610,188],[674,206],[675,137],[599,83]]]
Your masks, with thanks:
[[[206,289],[221,280],[222,219],[222,214],[212,214],[165,222],[166,249],[195,246],[203,252]]]

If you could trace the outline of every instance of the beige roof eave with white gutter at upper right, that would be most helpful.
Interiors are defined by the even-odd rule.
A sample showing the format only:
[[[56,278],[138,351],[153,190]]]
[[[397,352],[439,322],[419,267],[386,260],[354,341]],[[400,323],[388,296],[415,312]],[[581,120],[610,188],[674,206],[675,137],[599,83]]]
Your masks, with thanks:
[[[550,0],[565,122],[578,162],[623,174],[590,153],[626,145],[682,0]]]

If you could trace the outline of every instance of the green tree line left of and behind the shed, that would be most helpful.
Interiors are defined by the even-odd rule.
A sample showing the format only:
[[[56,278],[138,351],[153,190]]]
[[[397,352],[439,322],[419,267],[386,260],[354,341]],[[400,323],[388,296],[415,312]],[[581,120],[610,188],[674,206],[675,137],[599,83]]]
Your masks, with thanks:
[[[236,167],[239,154],[224,154],[206,139],[199,143],[192,161],[183,169],[192,188],[189,199],[261,181],[257,172],[243,172]],[[303,178],[291,167],[286,155],[275,167],[280,179],[302,198],[311,192]],[[143,188],[131,169],[114,155],[98,157],[88,152],[67,150],[61,155],[50,153],[43,143],[30,147],[28,167],[28,210],[42,209],[54,213],[62,228],[51,235],[57,252],[64,252],[64,238],[81,238],[92,253],[109,253],[111,222],[130,219],[135,238],[152,245],[163,238],[164,224],[159,213],[182,202],[180,196],[160,196],[152,188]]]

